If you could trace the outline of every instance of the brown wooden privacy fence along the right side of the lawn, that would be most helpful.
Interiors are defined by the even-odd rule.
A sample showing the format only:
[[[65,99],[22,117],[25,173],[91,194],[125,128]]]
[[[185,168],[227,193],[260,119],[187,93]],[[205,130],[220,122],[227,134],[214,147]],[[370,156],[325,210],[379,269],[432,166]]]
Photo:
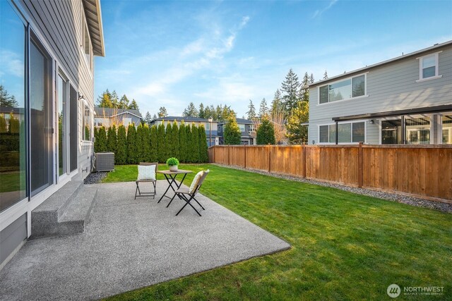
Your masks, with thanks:
[[[209,162],[452,204],[452,145],[215,145]]]

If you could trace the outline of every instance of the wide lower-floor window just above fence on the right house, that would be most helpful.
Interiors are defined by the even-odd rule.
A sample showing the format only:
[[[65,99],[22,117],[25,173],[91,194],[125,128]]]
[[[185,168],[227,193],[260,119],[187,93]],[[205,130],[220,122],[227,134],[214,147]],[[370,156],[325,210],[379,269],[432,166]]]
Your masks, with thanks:
[[[319,126],[319,142],[320,143],[336,142],[335,124]],[[352,143],[352,142],[354,143],[365,142],[364,122],[338,124],[338,143]]]

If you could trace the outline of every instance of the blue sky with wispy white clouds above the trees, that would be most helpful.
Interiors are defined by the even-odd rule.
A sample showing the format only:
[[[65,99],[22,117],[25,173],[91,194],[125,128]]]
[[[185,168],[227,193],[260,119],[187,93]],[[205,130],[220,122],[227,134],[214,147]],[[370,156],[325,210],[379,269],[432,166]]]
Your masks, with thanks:
[[[95,98],[107,88],[143,115],[249,99],[270,104],[288,70],[315,80],[452,39],[452,1],[101,0],[105,58],[95,59]]]

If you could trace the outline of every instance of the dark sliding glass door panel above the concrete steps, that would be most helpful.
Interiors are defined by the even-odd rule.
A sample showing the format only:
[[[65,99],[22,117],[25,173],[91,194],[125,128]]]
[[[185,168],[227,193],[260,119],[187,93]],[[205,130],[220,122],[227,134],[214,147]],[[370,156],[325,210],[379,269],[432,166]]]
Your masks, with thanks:
[[[30,39],[30,185],[32,195],[52,184],[52,65],[37,39]]]

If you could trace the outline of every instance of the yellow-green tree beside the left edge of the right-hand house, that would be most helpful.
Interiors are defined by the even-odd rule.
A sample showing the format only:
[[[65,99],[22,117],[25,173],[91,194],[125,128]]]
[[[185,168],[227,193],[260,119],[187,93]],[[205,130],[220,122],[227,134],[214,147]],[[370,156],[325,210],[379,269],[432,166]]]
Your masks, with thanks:
[[[287,138],[290,144],[307,143],[308,128],[302,123],[309,119],[309,102],[299,102],[297,108],[292,113],[292,116],[287,120]]]

